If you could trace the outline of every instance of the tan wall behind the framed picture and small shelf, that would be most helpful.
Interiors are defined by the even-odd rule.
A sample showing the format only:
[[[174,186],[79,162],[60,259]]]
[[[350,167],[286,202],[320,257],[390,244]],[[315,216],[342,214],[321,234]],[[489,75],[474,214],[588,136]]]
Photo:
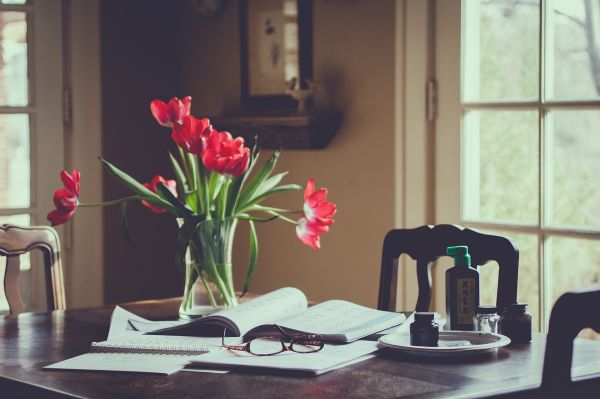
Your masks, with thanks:
[[[286,150],[278,168],[291,172],[289,182],[304,184],[313,177],[327,187],[338,214],[319,252],[296,239],[293,225],[260,224],[252,291],[291,285],[316,301],[342,298],[376,305],[383,237],[397,220],[395,18],[393,0],[314,1],[316,104],[340,107],[344,123],[327,149]],[[182,34],[182,84],[193,97],[192,112],[199,117],[238,108],[237,2],[227,2],[212,17],[184,13]],[[281,195],[270,203],[300,209],[302,194]],[[247,262],[244,228],[234,256],[238,286]]]

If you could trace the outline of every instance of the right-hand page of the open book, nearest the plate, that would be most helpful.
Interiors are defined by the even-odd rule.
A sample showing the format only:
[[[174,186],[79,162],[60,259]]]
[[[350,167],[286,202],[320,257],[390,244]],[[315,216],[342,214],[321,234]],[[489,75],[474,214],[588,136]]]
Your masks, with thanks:
[[[280,325],[293,330],[321,335],[343,334],[349,338],[362,331],[375,333],[383,328],[397,325],[405,320],[401,313],[385,312],[342,300],[331,300],[308,308],[305,312],[290,316]],[[369,334],[367,333],[367,335]]]

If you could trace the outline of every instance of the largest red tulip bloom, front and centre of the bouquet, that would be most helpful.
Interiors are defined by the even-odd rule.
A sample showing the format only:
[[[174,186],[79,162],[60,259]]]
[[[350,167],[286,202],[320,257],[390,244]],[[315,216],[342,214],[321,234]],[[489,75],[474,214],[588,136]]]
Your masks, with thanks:
[[[248,170],[250,149],[244,147],[243,138],[234,139],[229,132],[213,130],[206,139],[202,163],[208,170],[217,171],[227,177],[239,176]]]

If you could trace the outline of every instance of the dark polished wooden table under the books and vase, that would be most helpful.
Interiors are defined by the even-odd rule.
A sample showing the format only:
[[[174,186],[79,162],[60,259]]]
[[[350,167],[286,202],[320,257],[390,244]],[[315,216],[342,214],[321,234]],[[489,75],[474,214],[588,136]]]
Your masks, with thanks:
[[[143,317],[177,313],[177,299],[124,305]],[[87,352],[106,338],[113,307],[26,313],[0,318],[0,398],[391,398],[481,397],[540,383],[545,339],[507,347],[484,357],[452,361],[409,358],[384,352],[375,359],[317,377],[264,371],[170,376],[42,367]],[[600,375],[600,342],[577,340],[574,373]]]

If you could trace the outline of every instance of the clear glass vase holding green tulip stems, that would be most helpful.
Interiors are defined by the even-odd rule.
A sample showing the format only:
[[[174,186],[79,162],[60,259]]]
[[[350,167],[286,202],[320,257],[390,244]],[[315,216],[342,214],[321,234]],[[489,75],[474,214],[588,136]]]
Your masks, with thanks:
[[[238,304],[231,262],[236,226],[232,218],[197,224],[186,252],[180,318],[198,318]]]

